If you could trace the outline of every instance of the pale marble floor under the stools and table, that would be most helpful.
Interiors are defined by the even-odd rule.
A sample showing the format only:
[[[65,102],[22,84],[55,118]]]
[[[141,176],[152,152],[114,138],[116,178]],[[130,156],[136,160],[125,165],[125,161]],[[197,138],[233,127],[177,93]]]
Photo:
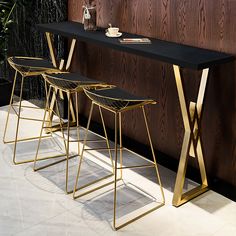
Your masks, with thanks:
[[[22,111],[29,113],[27,108]],[[42,110],[29,113],[42,117]],[[12,144],[3,144],[3,131],[7,106],[0,108],[0,236],[8,235],[158,235],[158,236],[233,236],[236,235],[236,203],[208,191],[191,202],[175,208],[171,205],[176,174],[162,166],[160,173],[164,186],[166,205],[122,228],[112,230],[112,186],[73,200],[64,194],[65,162],[38,172],[32,171],[32,163],[12,164]],[[15,119],[11,112],[8,139],[14,137]],[[20,137],[37,135],[40,123],[22,121]],[[83,133],[83,129],[81,129]],[[73,132],[72,132],[73,138]],[[96,138],[90,134],[91,138]],[[34,158],[37,141],[22,142],[17,146],[17,159]],[[40,155],[63,152],[61,139],[56,136],[44,139]],[[89,144],[94,146],[95,144]],[[100,147],[103,143],[98,143]],[[112,145],[112,143],[111,143]],[[77,152],[72,143],[71,151]],[[51,163],[41,161],[38,165]],[[142,158],[124,152],[124,165],[144,163]],[[78,158],[70,160],[69,188],[74,185]],[[109,173],[108,155],[96,151],[87,152],[81,169],[80,184]],[[153,169],[124,171],[124,183],[118,187],[118,214],[122,218],[141,206],[160,199],[159,186],[155,183]],[[186,180],[185,189],[195,183]],[[151,190],[151,191],[150,191]],[[147,194],[150,193],[151,195]]]

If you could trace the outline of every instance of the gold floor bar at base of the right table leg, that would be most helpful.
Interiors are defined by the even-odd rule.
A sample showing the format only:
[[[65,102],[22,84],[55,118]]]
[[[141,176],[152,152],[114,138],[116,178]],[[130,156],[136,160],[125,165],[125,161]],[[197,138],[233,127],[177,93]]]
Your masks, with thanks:
[[[208,190],[209,190],[208,186],[200,185],[194,189],[189,190],[188,192],[183,193],[180,201],[173,200],[172,205],[175,207],[179,207],[184,203],[188,202],[189,200],[207,192]]]

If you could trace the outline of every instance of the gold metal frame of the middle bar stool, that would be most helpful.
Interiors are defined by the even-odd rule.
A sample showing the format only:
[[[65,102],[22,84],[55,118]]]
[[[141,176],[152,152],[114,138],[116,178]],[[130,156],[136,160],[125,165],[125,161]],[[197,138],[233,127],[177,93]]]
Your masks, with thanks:
[[[65,72],[67,73],[67,72]],[[53,77],[53,76],[52,76]],[[55,164],[58,164],[60,162],[63,162],[63,161],[66,161],[66,177],[65,177],[65,193],[67,194],[70,194],[73,192],[73,189],[72,190],[69,190],[68,188],[68,181],[69,181],[69,160],[71,158],[74,158],[74,157],[77,157],[77,156],[80,156],[80,145],[79,145],[79,142],[80,141],[83,141],[83,140],[80,140],[80,132],[79,132],[79,128],[82,128],[80,125],[79,125],[79,99],[78,99],[78,94],[80,92],[83,92],[83,85],[79,85],[78,83],[78,86],[76,88],[73,88],[73,89],[65,89],[63,87],[59,87],[59,86],[56,86],[55,84],[53,84],[50,79],[47,78],[47,75],[43,74],[43,78],[44,80],[46,81],[46,83],[48,83],[48,86],[49,86],[49,91],[48,91],[48,96],[47,96],[47,101],[46,101],[46,109],[45,109],[45,112],[44,112],[44,117],[43,117],[43,122],[42,122],[42,127],[41,127],[41,131],[40,131],[40,136],[39,136],[39,140],[38,140],[38,146],[37,146],[37,150],[36,150],[36,155],[35,155],[35,159],[34,159],[34,166],[33,166],[33,170],[34,171],[38,171],[38,170],[42,170],[42,169],[45,169],[47,167],[50,167],[50,166],[53,166]],[[58,79],[60,80],[60,79]],[[67,82],[66,80],[62,80],[62,81],[65,81]],[[69,83],[74,83],[76,84],[77,82],[73,82],[73,81],[68,81]],[[86,87],[103,87],[103,86],[107,86],[106,84],[103,84],[102,82],[101,83],[98,83],[98,84],[86,84],[84,85]],[[57,96],[58,96],[58,92],[65,92],[68,96],[68,122],[67,122],[67,127],[63,126],[63,121],[62,121],[62,117],[60,115],[60,111],[59,111],[59,107],[58,107],[58,101],[57,101]],[[53,102],[56,106],[56,111],[54,111],[52,108],[51,108],[51,102],[50,102],[50,94],[51,92],[53,92],[52,94],[52,99],[53,99]],[[71,130],[71,126],[70,126],[70,111],[71,111],[71,107],[70,105],[72,104],[72,96],[75,95],[75,106],[76,106],[76,111],[75,111],[75,119],[76,119],[76,126],[73,127],[73,128],[76,128],[77,129],[77,140],[70,140],[70,130]],[[54,156],[48,156],[48,157],[44,157],[44,158],[40,158],[39,157],[39,150],[40,150],[40,144],[41,144],[41,139],[43,138],[43,130],[44,129],[48,129],[48,126],[46,125],[45,126],[45,123],[48,123],[48,122],[52,122],[51,119],[47,119],[47,112],[49,112],[49,114],[54,114],[56,115],[58,118],[59,118],[59,126],[60,126],[60,131],[62,133],[62,136],[58,136],[60,138],[63,139],[63,143],[64,143],[64,147],[65,147],[65,153],[61,154],[61,155],[54,155]],[[111,152],[110,152],[110,144],[108,142],[108,137],[107,137],[107,131],[106,131],[106,127],[105,127],[105,123],[104,123],[104,119],[103,119],[103,114],[102,112],[100,112],[100,117],[101,117],[101,120],[102,120],[102,124],[103,124],[103,129],[104,129],[104,135],[105,137],[99,135],[99,137],[103,140],[103,141],[106,141],[106,145],[107,145],[107,149],[109,150],[109,156],[110,156],[110,160],[111,160],[111,163],[112,163],[112,170],[114,171],[114,167],[113,167],[113,161],[112,161],[112,155],[111,155]],[[72,117],[72,120],[74,118]],[[64,129],[67,129],[67,138],[65,137],[64,135]],[[58,129],[57,129],[58,130]],[[51,136],[52,136],[52,132],[53,132],[53,129],[49,129],[49,132],[51,133]],[[54,133],[56,135],[56,133]],[[96,134],[97,135],[97,134]],[[88,140],[89,142],[100,142],[100,140]],[[72,155],[70,156],[70,142],[77,142],[78,143],[78,153],[75,154],[75,155]],[[51,164],[47,164],[47,165],[44,165],[44,166],[41,166],[41,167],[36,167],[36,163],[38,160],[48,160],[48,159],[51,159],[51,158],[59,158],[59,157],[63,157],[65,156],[64,159],[62,160],[59,160],[57,162],[54,162],[54,163],[51,163]],[[113,173],[112,173],[113,175]],[[111,175],[107,176],[107,177],[110,177]]]

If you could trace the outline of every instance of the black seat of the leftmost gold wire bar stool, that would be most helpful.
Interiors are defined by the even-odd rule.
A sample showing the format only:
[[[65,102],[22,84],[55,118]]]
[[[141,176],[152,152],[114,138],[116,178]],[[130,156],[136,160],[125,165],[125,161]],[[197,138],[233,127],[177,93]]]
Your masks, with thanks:
[[[49,60],[43,58],[9,57],[8,62],[13,68],[25,75],[31,75],[31,73],[36,75],[46,71],[59,71]]]

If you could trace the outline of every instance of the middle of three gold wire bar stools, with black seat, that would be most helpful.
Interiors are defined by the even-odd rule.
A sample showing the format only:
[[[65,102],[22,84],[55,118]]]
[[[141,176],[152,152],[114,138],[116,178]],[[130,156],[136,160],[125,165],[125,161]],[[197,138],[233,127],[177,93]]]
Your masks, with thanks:
[[[40,131],[40,137],[39,137],[39,141],[38,141],[38,147],[37,147],[37,151],[36,151],[36,156],[34,159],[34,167],[33,170],[34,171],[38,171],[38,170],[42,170],[44,168],[47,168],[49,166],[55,165],[57,163],[60,163],[62,161],[66,161],[66,179],[65,179],[65,192],[67,194],[72,193],[73,190],[69,190],[68,188],[68,181],[69,181],[69,160],[75,156],[79,156],[80,155],[80,148],[79,148],[79,142],[80,140],[80,131],[79,128],[79,99],[78,99],[78,94],[83,92],[83,87],[105,87],[107,86],[105,83],[101,82],[101,81],[97,81],[97,80],[93,80],[93,79],[89,79],[85,76],[82,76],[79,73],[60,73],[60,74],[43,74],[43,77],[49,87],[49,91],[48,91],[48,95],[47,95],[47,101],[46,101],[46,109],[45,109],[45,113],[44,113],[44,117],[43,117],[43,123],[42,123],[42,128]],[[60,111],[59,111],[59,107],[58,107],[58,91],[63,91],[65,93],[67,93],[68,96],[68,122],[67,122],[67,127],[63,126],[63,119],[61,117]],[[72,96],[75,96],[75,107],[76,107],[76,126],[74,126],[73,128],[77,129],[77,140],[75,139],[70,139],[70,130],[71,130],[71,122],[70,122],[70,104],[72,104]],[[54,97],[55,98],[55,106],[56,109],[51,109],[49,107],[50,104],[50,98]],[[45,127],[45,123],[50,122],[49,120],[46,119],[46,114],[47,112],[52,112],[56,115],[56,117],[59,118],[59,126],[60,126],[60,130],[62,133],[62,136],[59,135],[60,138],[63,139],[63,143],[64,143],[64,148],[65,148],[65,153],[60,154],[60,155],[54,155],[54,156],[48,156],[48,157],[43,157],[44,159],[50,159],[50,158],[57,158],[57,157],[62,157],[65,156],[65,159],[54,162],[52,164],[47,164],[44,166],[40,166],[40,167],[36,167],[37,161],[38,160],[42,160],[43,158],[39,157],[39,150],[40,150],[40,144],[41,144],[41,139],[43,136],[43,130],[45,128],[47,128],[47,126]],[[104,128],[104,134],[105,134],[105,138],[103,138],[102,136],[100,136],[104,141],[106,141],[107,147],[109,148],[109,142],[107,142],[107,132],[106,132],[106,128],[105,128],[105,124],[104,124],[104,120],[103,120],[103,115],[102,112],[100,112],[100,116],[101,116],[101,120],[103,123],[103,128]],[[66,128],[66,134],[67,137],[65,137],[64,135],[64,128]],[[52,132],[52,131],[51,131]],[[52,133],[51,133],[52,134]],[[54,133],[56,135],[56,133]],[[95,142],[95,140],[91,140],[91,142]],[[72,155],[70,156],[70,143],[71,142],[78,142],[78,154],[76,155]],[[112,156],[111,156],[111,152],[109,151],[109,156],[110,156],[110,160],[111,163],[112,162]]]

